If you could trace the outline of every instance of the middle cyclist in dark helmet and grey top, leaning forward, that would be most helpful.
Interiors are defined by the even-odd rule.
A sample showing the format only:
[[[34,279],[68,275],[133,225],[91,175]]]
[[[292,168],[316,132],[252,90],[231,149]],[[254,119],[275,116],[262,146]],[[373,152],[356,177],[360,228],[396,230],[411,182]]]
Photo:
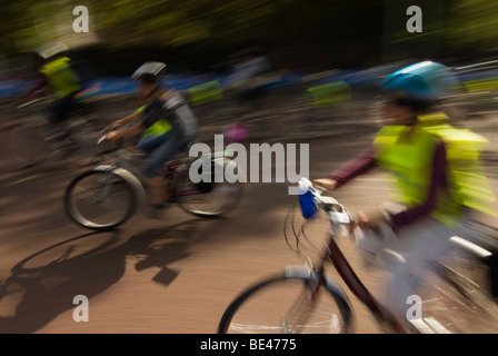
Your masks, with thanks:
[[[165,162],[187,149],[197,135],[197,118],[172,88],[161,87],[166,75],[166,65],[146,62],[131,76],[138,81],[138,96],[145,102],[132,115],[113,122],[113,127],[123,127],[107,134],[109,140],[141,135],[137,148],[148,156],[143,165],[143,175],[150,189],[151,207],[149,217],[158,217],[168,200],[168,191],[159,169]]]

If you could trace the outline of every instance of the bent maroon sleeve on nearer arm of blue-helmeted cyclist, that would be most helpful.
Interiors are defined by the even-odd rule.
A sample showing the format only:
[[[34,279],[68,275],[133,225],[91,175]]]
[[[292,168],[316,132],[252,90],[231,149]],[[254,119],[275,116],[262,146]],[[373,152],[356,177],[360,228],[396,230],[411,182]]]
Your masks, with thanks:
[[[391,215],[390,219],[392,227],[405,226],[429,215],[436,206],[438,188],[447,187],[448,180],[446,176],[446,145],[442,140],[440,140],[434,155],[432,176],[426,201],[419,206]]]

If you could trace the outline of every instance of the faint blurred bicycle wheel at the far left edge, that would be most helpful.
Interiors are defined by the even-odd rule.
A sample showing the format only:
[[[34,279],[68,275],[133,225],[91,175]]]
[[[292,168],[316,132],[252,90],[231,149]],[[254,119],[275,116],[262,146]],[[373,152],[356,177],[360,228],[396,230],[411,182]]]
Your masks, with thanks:
[[[1,142],[0,167],[3,170],[21,170],[41,164],[49,157],[49,150],[38,130],[30,126],[14,125],[4,134]]]

